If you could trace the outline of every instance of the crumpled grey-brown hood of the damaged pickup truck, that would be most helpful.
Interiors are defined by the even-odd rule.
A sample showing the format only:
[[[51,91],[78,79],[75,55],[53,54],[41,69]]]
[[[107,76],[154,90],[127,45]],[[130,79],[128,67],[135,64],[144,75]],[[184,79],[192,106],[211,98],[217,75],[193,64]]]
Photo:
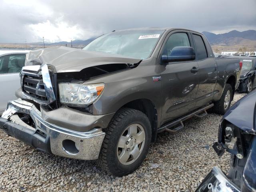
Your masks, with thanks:
[[[50,64],[56,72],[78,72],[84,68],[104,64],[136,64],[140,59],[125,58],[122,55],[92,52],[64,46],[56,46],[29,52],[26,66]]]

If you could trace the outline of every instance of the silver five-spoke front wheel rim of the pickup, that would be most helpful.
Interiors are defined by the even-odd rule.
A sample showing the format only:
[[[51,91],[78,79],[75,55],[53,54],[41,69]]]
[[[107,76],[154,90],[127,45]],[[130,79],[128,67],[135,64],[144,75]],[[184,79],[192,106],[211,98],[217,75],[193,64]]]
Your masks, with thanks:
[[[135,162],[140,156],[145,144],[145,131],[140,124],[129,125],[119,138],[117,157],[123,165]]]

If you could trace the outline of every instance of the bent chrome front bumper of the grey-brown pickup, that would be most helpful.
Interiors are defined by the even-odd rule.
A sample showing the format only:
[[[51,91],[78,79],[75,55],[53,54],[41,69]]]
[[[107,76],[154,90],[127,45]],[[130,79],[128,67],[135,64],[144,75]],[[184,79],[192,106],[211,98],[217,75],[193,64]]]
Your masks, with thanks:
[[[29,115],[35,126],[31,127],[23,122],[18,113]],[[21,99],[8,102],[7,109],[0,118],[0,128],[39,150],[81,160],[97,159],[105,136],[98,128],[77,132],[48,123],[42,119],[41,112],[34,104]],[[47,149],[44,145],[50,145],[50,150],[44,150]]]

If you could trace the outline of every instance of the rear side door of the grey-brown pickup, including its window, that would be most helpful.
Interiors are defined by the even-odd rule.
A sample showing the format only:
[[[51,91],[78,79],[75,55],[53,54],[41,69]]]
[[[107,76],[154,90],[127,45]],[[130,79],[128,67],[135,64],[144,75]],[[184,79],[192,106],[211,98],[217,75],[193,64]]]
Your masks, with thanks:
[[[192,32],[199,71],[199,86],[196,94],[196,108],[212,101],[217,82],[217,64],[208,41],[199,33]]]

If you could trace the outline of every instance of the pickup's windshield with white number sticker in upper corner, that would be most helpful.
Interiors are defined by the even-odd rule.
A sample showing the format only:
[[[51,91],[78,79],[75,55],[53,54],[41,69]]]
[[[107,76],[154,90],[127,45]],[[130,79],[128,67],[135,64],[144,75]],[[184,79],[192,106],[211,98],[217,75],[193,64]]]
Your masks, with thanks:
[[[119,54],[146,59],[150,56],[164,30],[126,30],[104,34],[83,50]]]

